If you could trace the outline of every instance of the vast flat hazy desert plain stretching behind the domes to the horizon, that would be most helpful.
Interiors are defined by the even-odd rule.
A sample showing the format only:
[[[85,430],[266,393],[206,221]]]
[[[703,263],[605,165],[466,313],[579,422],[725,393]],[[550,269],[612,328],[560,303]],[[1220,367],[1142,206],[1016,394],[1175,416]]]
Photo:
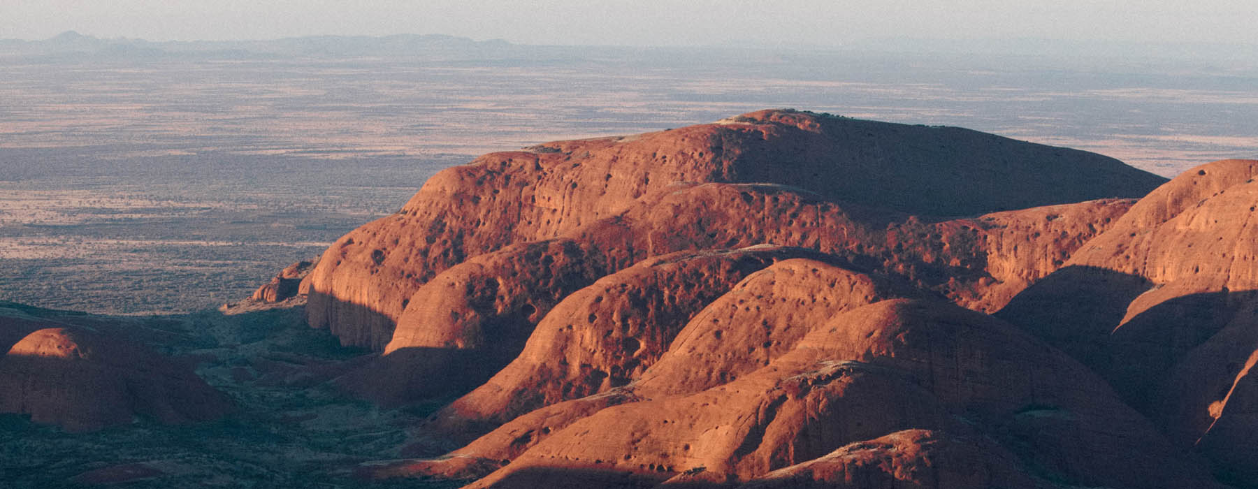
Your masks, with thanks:
[[[474,155],[765,107],[969,127],[1164,176],[1258,147],[1258,75],[1206,63],[94,41],[0,45],[3,299],[111,313],[213,307]],[[74,52],[84,45],[97,50]]]

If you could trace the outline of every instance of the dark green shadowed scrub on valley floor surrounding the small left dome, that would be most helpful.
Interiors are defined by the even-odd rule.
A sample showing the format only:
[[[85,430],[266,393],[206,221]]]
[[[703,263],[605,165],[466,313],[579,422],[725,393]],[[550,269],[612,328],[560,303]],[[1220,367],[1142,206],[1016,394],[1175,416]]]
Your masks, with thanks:
[[[382,411],[323,383],[364,352],[342,348],[302,321],[301,305],[223,314],[203,310],[161,318],[70,322],[145,332],[162,352],[196,367],[234,404],[208,422],[135,424],[65,432],[29,416],[0,415],[0,480],[6,488],[75,488],[126,481],[132,488],[335,488],[360,484],[356,463],[392,458],[405,427],[426,412]],[[0,302],[0,322],[55,312]],[[151,338],[150,338],[151,339]],[[8,395],[13,395],[9,392]],[[454,488],[452,481],[379,486]]]

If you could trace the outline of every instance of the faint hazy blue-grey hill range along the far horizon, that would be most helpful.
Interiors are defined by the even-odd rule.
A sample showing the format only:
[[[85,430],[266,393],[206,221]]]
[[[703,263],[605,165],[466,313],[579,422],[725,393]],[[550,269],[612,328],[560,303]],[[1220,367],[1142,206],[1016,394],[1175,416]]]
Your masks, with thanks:
[[[532,45],[502,39],[473,40],[443,34],[309,35],[269,40],[192,40],[150,41],[133,38],[102,39],[73,30],[49,39],[0,39],[0,57],[92,55],[97,59],[146,59],[170,55],[210,58],[269,57],[386,57],[437,59],[541,58],[590,59],[605,55],[643,55],[662,53],[746,53],[756,50],[795,53],[876,54],[881,57],[946,55],[982,58],[1034,58],[1071,60],[1174,60],[1216,62],[1253,65],[1253,45],[1224,43],[1116,43],[1018,39],[925,39],[891,36],[863,39],[843,45],[756,44],[731,41],[703,47],[613,47],[613,45]]]

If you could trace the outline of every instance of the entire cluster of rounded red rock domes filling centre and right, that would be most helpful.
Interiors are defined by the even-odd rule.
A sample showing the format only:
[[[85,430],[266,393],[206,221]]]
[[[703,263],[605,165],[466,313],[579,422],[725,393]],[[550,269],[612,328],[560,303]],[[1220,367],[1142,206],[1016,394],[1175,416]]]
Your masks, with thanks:
[[[1258,273],[1237,209],[1258,200],[1255,163],[1066,204],[1160,180],[974,132],[764,111],[450,168],[303,287],[313,326],[386,352],[346,388],[472,391],[424,430],[483,436],[374,475],[1214,486],[1086,367],[980,312],[1248,480],[1258,300],[1240,290]],[[806,258],[713,251],[755,245]]]

